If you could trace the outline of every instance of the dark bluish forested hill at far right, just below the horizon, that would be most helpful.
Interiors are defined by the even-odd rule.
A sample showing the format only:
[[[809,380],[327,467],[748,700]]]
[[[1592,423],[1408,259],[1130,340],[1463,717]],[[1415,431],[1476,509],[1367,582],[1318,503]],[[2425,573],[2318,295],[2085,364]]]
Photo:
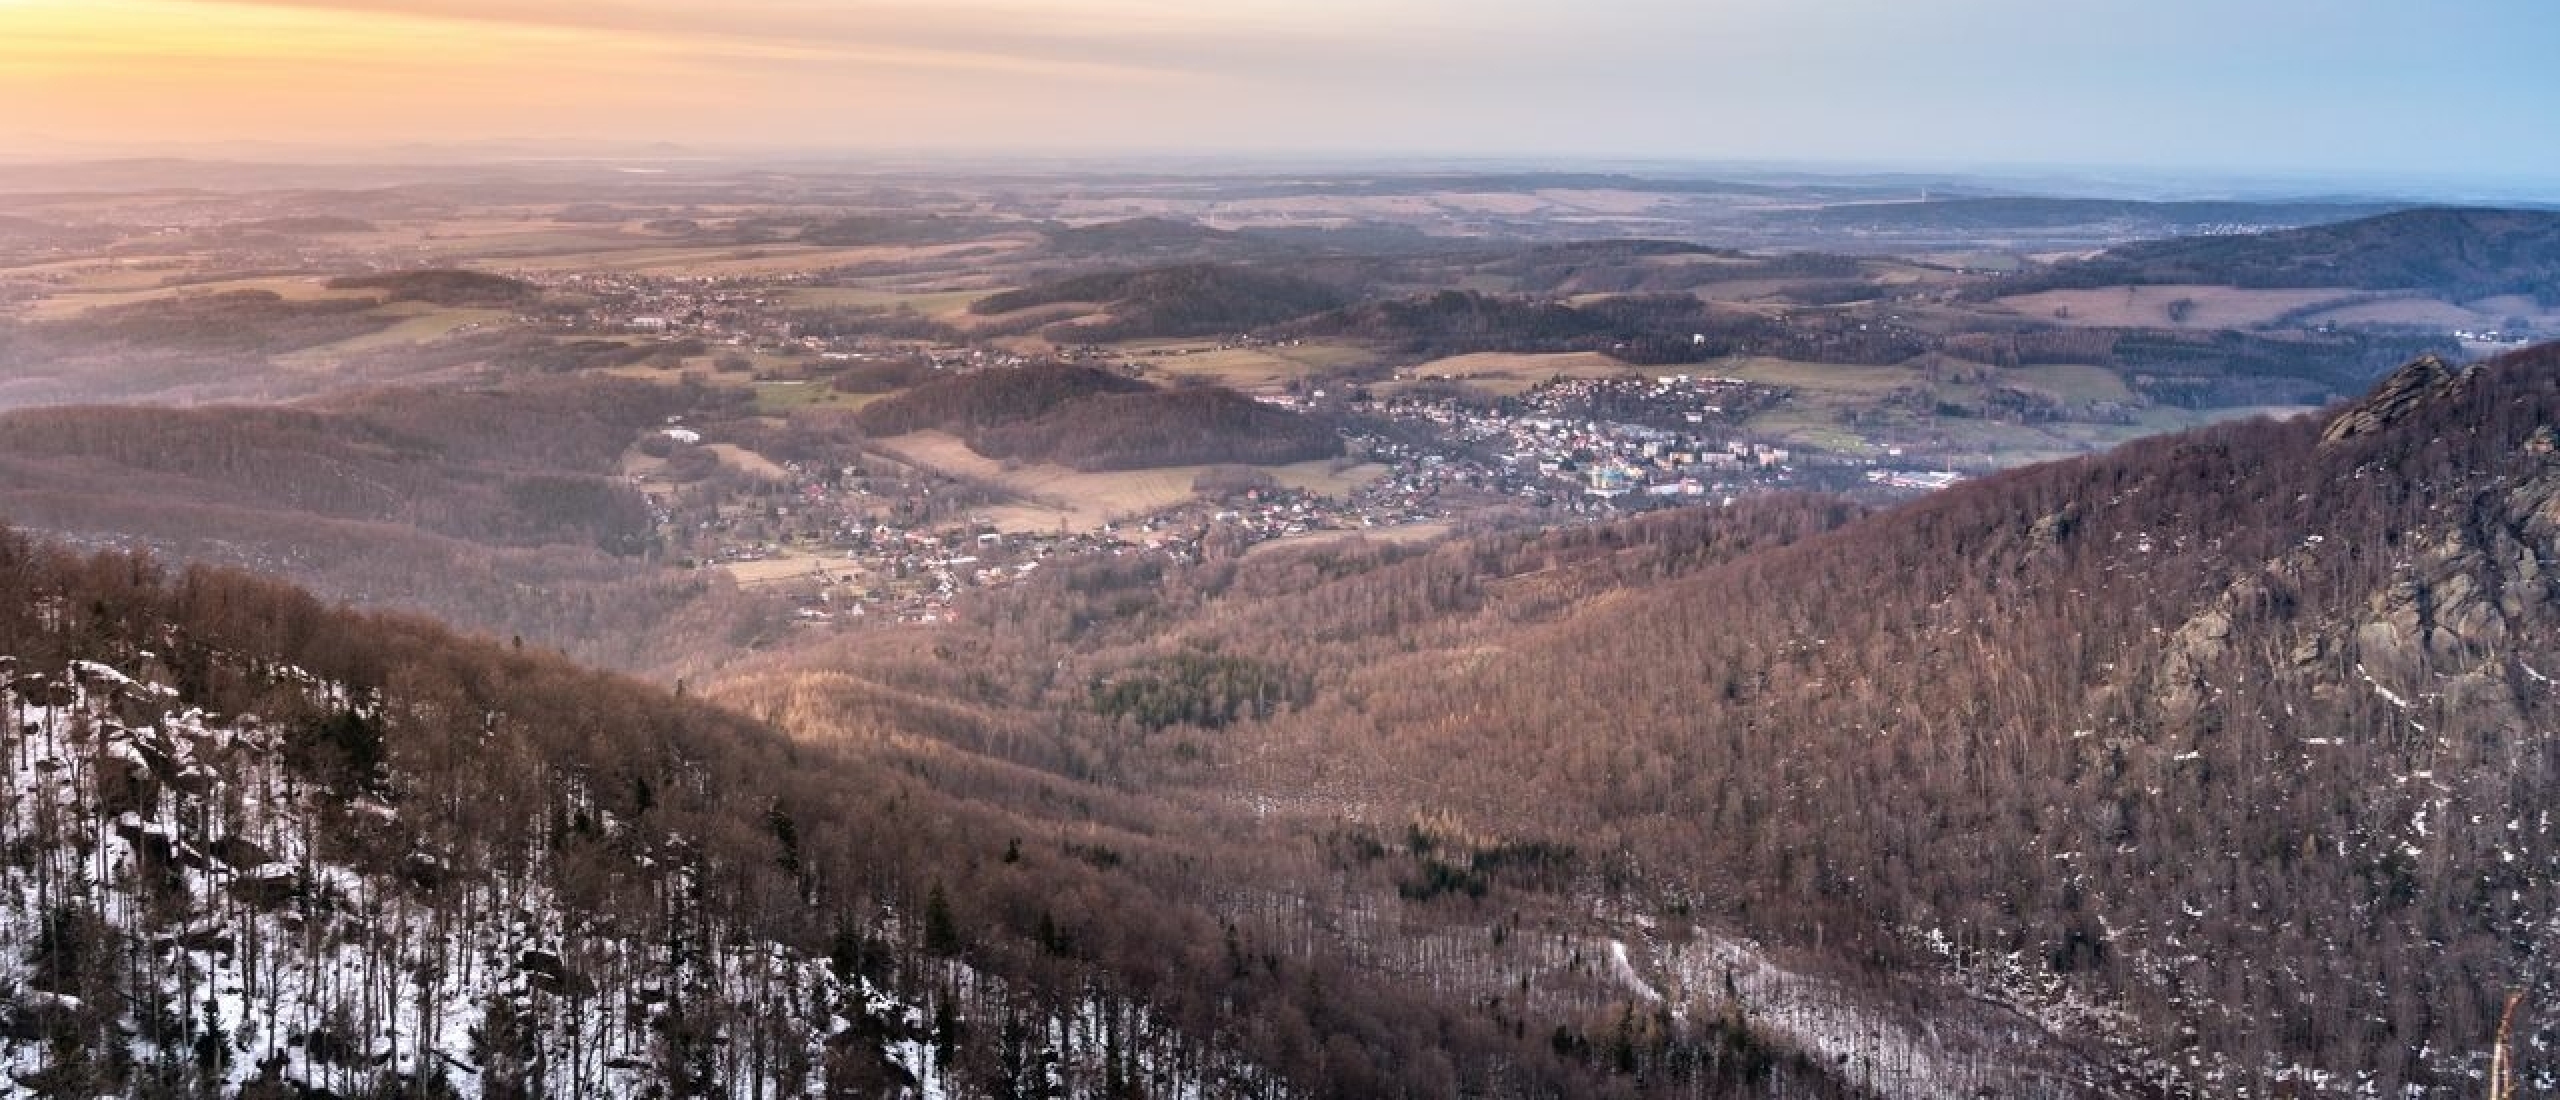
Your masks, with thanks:
[[[2414,289],[2452,302],[2527,294],[2547,307],[2560,304],[2560,212],[2424,207],[2296,230],[2143,240],[2038,279]]]

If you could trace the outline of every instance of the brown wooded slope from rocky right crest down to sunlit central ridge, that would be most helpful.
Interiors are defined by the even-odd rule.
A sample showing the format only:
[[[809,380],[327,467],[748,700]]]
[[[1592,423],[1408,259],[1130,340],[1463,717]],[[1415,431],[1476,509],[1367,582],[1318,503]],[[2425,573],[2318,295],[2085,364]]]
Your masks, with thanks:
[[[1884,1095],[2450,1097],[2560,998],[2552,563],[2560,345],[1871,517],[1057,570],[824,660],[1234,813],[1203,880],[1505,1005],[1626,952]],[[1549,939],[1423,931],[1500,913]]]

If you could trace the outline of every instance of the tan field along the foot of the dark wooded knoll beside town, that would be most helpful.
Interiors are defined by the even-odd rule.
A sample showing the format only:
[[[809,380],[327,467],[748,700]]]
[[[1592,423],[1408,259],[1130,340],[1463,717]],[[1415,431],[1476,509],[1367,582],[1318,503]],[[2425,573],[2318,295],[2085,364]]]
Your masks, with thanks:
[[[929,471],[983,481],[1019,496],[1011,507],[986,509],[1006,532],[1098,530],[1101,524],[1162,512],[1193,499],[1190,483],[1206,466],[1167,466],[1157,471],[1106,471],[1088,473],[1065,466],[1006,466],[986,458],[947,432],[909,432],[881,445],[883,453]],[[1382,466],[1349,466],[1336,471],[1331,460],[1267,466],[1272,478],[1288,489],[1316,494],[1344,494],[1385,476]]]

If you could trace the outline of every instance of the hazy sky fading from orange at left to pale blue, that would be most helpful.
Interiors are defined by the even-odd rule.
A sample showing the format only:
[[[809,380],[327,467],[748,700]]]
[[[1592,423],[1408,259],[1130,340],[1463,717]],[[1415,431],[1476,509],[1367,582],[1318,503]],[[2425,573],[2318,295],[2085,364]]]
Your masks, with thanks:
[[[0,146],[607,138],[2560,182],[2555,0],[0,0]]]

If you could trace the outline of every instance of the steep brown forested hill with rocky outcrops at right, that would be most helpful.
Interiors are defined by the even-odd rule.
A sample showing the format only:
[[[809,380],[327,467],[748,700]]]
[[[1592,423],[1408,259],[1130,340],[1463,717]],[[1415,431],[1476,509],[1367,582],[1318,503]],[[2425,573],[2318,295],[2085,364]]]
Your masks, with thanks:
[[[1610,837],[1702,913],[1943,967],[2204,1092],[2455,1095],[2509,990],[2560,995],[2555,432],[2560,348],[2419,361],[2327,420],[1987,478],[1388,660],[1270,742],[1324,744],[1288,785]],[[1377,732],[1318,739],[1347,727]]]

